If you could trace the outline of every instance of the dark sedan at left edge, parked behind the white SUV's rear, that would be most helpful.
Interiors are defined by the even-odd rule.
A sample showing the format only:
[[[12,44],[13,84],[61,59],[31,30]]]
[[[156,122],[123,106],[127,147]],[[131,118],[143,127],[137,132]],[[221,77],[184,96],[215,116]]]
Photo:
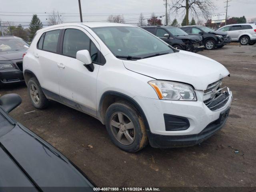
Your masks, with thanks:
[[[16,36],[0,36],[0,86],[24,81],[22,56],[29,44]]]

